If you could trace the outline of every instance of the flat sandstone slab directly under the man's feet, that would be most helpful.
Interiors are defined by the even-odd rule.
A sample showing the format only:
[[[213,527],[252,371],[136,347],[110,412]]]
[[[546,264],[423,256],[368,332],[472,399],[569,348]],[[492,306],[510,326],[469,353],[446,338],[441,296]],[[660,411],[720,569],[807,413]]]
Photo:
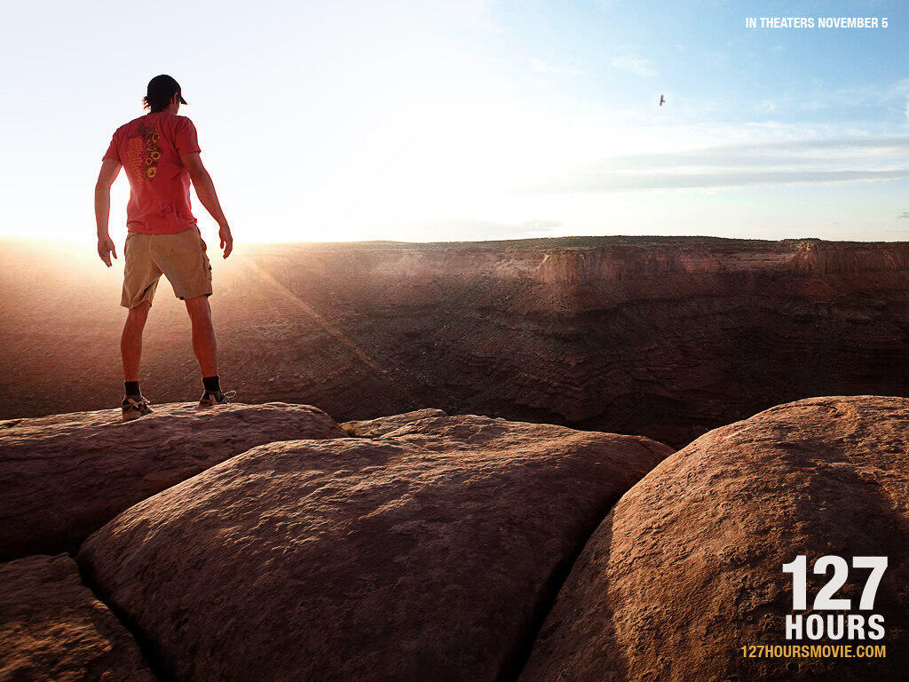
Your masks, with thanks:
[[[155,405],[0,422],[0,560],[75,552],[125,508],[250,447],[346,436],[311,406]]]

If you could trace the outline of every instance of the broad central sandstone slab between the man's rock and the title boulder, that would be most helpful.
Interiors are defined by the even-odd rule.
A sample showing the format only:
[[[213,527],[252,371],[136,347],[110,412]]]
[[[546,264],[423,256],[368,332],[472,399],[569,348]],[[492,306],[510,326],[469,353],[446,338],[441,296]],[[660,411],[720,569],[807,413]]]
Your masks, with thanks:
[[[77,560],[176,680],[514,677],[585,538],[671,452],[480,416],[393,433],[256,447]]]

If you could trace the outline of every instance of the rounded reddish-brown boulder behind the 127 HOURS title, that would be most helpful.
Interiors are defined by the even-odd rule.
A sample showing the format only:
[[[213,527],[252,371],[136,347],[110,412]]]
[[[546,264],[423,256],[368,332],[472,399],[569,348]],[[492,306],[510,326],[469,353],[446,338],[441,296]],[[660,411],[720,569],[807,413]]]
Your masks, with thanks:
[[[784,563],[807,556],[807,604],[833,577],[824,555],[886,556],[835,595],[884,616],[881,640],[785,637]],[[522,682],[905,680],[909,669],[909,400],[823,397],[718,428],[670,456],[584,548]],[[826,616],[829,611],[816,611]],[[886,658],[745,658],[746,645],[886,646]]]

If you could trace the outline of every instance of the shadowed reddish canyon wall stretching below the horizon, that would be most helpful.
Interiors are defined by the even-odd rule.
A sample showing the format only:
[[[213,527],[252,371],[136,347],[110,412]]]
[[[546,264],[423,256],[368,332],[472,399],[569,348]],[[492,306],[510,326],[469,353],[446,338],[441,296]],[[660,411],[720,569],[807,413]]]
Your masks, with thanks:
[[[116,405],[122,271],[90,249],[7,246],[0,416]],[[806,396],[909,395],[907,243],[565,237],[213,260],[221,374],[244,402],[338,419],[435,406],[683,446]],[[164,284],[143,389],[201,393]]]

